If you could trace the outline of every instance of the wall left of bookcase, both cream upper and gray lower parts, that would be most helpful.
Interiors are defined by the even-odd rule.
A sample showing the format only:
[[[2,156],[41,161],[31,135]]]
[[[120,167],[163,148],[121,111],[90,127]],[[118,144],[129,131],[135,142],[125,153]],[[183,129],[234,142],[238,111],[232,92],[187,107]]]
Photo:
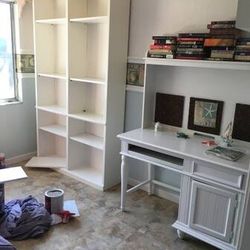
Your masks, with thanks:
[[[33,53],[32,5],[28,4],[17,27],[17,53]],[[20,33],[19,33],[20,32]],[[30,78],[31,77],[31,78]],[[22,103],[0,106],[0,152],[6,158],[17,157],[36,151],[35,81],[19,75]]]

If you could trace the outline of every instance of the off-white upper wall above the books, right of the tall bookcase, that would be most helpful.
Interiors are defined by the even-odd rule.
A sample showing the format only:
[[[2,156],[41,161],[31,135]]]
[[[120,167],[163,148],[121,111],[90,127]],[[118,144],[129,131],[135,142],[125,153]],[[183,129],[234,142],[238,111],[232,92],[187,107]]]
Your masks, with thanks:
[[[131,0],[129,56],[144,57],[153,35],[206,32],[235,19],[237,0]]]

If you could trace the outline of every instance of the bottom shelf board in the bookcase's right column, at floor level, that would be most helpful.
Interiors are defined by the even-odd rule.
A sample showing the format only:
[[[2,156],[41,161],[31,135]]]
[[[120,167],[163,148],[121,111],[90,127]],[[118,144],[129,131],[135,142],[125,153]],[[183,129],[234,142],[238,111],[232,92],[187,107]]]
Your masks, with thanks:
[[[80,166],[76,169],[58,169],[59,172],[73,177],[87,185],[103,190],[103,174],[100,169]]]

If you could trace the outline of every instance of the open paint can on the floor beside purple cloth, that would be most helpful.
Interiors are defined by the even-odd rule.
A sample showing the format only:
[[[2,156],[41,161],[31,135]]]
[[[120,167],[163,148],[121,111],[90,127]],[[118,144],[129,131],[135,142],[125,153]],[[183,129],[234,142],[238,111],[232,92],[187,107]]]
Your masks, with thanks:
[[[45,192],[45,208],[50,214],[57,214],[63,211],[63,195],[64,191],[59,188]]]

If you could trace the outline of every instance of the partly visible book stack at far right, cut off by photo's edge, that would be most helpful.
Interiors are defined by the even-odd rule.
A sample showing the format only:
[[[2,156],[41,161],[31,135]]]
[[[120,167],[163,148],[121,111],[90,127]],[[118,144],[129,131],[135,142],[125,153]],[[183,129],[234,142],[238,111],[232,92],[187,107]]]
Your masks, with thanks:
[[[250,37],[237,39],[234,60],[250,62]]]

